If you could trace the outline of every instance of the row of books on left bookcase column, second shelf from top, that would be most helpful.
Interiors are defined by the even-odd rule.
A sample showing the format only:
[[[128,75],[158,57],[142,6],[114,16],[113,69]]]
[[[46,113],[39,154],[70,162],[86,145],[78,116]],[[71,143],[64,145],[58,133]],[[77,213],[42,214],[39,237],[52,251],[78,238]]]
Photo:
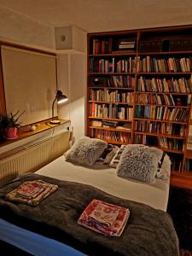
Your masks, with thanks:
[[[136,58],[129,57],[120,60],[90,58],[89,71],[93,73],[135,73]]]

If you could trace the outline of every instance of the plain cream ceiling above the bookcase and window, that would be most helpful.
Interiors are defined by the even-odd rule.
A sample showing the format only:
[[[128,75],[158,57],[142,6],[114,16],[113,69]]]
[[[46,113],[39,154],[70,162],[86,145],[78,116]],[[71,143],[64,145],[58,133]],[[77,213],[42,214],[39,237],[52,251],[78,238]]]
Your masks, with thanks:
[[[49,26],[86,32],[192,24],[191,0],[0,0],[0,6]]]

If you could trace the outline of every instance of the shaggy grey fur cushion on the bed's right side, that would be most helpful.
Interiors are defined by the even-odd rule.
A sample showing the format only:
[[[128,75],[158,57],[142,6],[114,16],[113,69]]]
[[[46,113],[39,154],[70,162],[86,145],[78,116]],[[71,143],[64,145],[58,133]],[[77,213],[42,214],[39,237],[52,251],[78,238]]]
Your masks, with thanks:
[[[118,176],[131,177],[145,183],[154,183],[158,157],[148,146],[127,145],[117,166]]]

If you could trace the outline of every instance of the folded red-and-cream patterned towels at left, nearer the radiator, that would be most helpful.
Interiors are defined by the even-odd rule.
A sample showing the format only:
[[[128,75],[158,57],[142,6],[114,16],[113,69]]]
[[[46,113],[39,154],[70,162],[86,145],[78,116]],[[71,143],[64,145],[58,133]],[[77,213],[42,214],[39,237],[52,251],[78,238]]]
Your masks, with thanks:
[[[5,199],[35,207],[56,189],[58,189],[57,185],[44,183],[42,180],[27,181],[5,195]]]

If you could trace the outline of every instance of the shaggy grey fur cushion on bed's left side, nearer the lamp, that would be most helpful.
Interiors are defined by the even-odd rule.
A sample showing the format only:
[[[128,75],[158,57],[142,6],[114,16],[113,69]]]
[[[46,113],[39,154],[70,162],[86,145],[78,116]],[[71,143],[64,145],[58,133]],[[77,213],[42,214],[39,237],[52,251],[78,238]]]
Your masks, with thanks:
[[[107,148],[108,143],[100,139],[80,137],[64,155],[68,162],[83,166],[92,166]]]

